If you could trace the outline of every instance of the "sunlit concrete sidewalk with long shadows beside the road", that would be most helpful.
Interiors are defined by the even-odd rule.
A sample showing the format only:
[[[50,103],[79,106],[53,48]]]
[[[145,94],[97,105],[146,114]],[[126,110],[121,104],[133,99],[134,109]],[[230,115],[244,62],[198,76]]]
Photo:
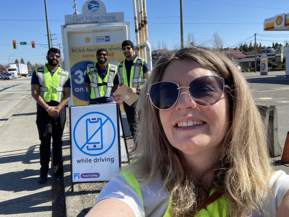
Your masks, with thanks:
[[[38,183],[36,102],[27,96],[14,108],[14,114],[3,119],[7,121],[0,128],[0,216],[65,216],[65,204],[59,203],[64,197],[63,178],[53,177],[49,169],[47,183]],[[67,131],[68,127],[64,148],[69,147]]]

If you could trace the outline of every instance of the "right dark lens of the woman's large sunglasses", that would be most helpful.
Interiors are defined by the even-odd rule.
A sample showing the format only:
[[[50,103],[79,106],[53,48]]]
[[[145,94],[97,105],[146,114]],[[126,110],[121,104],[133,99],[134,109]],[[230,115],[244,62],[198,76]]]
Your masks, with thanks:
[[[217,76],[203,76],[189,84],[192,99],[200,106],[216,103],[223,94],[223,81]]]

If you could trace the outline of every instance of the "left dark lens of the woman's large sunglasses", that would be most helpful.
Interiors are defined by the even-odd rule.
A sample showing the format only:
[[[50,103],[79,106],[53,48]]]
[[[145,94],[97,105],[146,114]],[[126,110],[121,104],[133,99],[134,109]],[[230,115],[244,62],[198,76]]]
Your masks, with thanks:
[[[155,83],[149,88],[149,97],[151,102],[158,109],[171,108],[178,99],[178,85],[172,82],[164,81]]]

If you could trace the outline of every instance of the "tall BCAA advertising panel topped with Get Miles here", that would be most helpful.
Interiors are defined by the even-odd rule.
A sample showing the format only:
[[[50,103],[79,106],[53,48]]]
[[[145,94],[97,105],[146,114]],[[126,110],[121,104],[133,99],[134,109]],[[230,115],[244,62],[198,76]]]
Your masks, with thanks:
[[[71,78],[69,106],[88,104],[90,94],[84,78],[87,65],[97,62],[97,50],[105,48],[108,63],[117,65],[125,59],[121,43],[127,39],[130,28],[129,22],[124,22],[124,12],[106,13],[102,1],[88,0],[82,6],[82,14],[65,15],[62,42],[65,70]]]

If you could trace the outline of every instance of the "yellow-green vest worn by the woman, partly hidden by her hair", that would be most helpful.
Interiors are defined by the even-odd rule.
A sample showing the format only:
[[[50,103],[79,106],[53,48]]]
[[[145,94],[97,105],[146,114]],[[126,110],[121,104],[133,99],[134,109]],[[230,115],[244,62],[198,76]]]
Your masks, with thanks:
[[[136,191],[138,196],[140,197],[143,205],[143,200],[142,200],[142,194],[140,192],[140,185],[138,183],[138,180],[136,177],[131,173],[122,173],[121,174],[127,183],[132,186],[132,188]],[[215,190],[211,190],[210,195],[211,196]],[[169,202],[168,202],[168,208],[166,209],[166,212],[164,214],[164,217],[170,217],[170,212],[169,210],[171,209],[171,197],[169,197]],[[206,208],[201,209],[194,217],[227,217],[227,211],[228,211],[228,202],[223,194],[221,197],[216,199],[214,202],[210,203],[207,205]]]

